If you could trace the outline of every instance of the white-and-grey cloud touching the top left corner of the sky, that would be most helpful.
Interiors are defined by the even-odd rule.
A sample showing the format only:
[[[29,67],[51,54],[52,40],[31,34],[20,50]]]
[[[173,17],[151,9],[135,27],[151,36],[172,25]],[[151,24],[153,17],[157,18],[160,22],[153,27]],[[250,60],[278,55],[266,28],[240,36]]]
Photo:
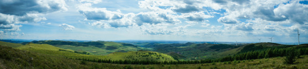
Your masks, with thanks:
[[[27,13],[50,13],[67,10],[63,0],[14,0],[1,1],[0,13],[23,16]]]

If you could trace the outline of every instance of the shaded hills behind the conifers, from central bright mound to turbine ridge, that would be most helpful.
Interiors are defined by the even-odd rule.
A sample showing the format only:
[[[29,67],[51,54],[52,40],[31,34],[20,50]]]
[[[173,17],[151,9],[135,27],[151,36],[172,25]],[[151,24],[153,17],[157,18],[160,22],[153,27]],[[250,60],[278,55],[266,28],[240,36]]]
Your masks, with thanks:
[[[304,44],[302,44],[304,45]],[[294,47],[295,45],[284,45],[271,42],[262,43],[251,43],[243,45],[230,45],[230,44],[206,44],[206,43],[184,43],[184,44],[159,44],[159,43],[149,43],[148,47],[154,47],[152,50],[160,53],[174,52],[173,57],[176,55],[184,56],[184,60],[200,60],[200,59],[215,59],[222,58],[225,56],[235,55],[238,53],[245,53],[249,51],[262,51],[267,49],[280,49]],[[176,53],[176,54],[175,54]]]

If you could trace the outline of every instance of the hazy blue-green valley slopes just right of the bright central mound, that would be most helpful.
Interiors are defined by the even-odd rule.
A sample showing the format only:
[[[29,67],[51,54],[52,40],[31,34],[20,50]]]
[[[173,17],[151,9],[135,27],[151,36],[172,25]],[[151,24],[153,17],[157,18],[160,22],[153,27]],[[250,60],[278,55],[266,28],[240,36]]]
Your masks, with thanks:
[[[184,46],[186,44],[186,46]],[[194,44],[185,43],[182,45],[176,44],[156,44],[153,51],[160,53],[175,52],[179,55],[185,56],[186,60],[205,59],[209,55],[215,55],[220,52],[232,50],[238,48],[236,45],[229,44]]]

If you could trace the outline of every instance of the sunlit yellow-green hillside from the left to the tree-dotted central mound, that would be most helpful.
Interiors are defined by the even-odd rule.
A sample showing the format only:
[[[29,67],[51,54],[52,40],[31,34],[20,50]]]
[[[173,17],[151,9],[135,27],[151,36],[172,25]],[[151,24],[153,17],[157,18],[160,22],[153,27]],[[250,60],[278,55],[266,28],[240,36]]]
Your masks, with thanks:
[[[166,54],[150,52],[150,51],[138,51],[138,52],[115,52],[108,54],[107,56],[99,55],[85,55],[74,53],[72,50],[65,50],[61,48],[54,47],[49,44],[35,44],[28,43],[16,49],[31,51],[35,53],[41,53],[45,55],[55,55],[67,58],[85,58],[85,59],[110,59],[110,60],[152,60],[152,61],[175,61],[171,56]],[[65,51],[60,51],[65,50]]]

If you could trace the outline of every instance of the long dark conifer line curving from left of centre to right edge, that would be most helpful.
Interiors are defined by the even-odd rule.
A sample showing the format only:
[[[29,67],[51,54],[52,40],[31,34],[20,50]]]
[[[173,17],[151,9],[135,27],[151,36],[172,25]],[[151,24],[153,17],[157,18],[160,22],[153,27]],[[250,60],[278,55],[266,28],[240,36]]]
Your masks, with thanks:
[[[178,61],[155,61],[155,60],[110,60],[110,59],[86,59],[76,58],[77,60],[99,62],[99,63],[114,63],[114,64],[198,64],[198,63],[212,63],[212,62],[227,62],[236,60],[251,60],[261,58],[283,57],[288,55],[308,55],[308,45],[301,47],[289,47],[289,48],[273,48],[267,50],[256,50],[244,53],[235,54],[233,56],[226,56],[219,59],[203,59],[203,60],[178,60]],[[293,59],[285,59],[293,60]],[[287,61],[286,61],[287,62]]]

